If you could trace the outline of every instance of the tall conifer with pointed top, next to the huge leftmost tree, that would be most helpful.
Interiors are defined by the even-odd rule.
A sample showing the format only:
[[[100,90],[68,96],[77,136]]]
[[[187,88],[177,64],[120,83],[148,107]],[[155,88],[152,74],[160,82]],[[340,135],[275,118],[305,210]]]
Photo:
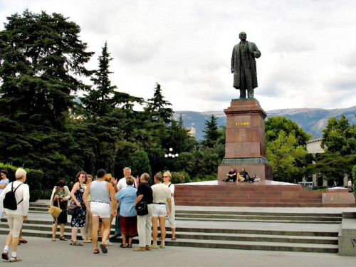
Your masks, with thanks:
[[[111,84],[109,75],[112,74],[110,71],[112,58],[108,52],[107,42],[98,61],[98,70],[94,71],[91,78],[93,88],[90,88],[81,99],[83,117],[88,124],[88,134],[91,137],[88,145],[93,148],[93,153],[88,153],[85,164],[90,170],[104,167],[113,172],[115,158],[120,149],[118,142],[129,137],[132,127],[135,127],[136,112],[132,107],[143,100],[121,93]]]

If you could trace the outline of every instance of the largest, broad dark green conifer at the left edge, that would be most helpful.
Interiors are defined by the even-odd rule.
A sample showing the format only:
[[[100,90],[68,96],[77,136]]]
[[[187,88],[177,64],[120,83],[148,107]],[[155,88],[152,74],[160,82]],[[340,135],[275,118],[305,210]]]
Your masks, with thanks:
[[[0,160],[67,176],[66,131],[73,93],[87,87],[93,53],[79,40],[80,27],[61,14],[9,16],[0,32]],[[47,181],[47,179],[46,179]]]

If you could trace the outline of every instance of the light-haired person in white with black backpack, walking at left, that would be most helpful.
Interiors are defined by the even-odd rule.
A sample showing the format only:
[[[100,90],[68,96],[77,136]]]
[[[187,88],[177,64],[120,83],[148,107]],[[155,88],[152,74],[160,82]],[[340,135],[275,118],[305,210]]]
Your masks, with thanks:
[[[3,208],[3,201],[7,192],[11,190],[15,192],[17,209],[3,209],[7,216],[7,223],[9,224],[10,233],[6,239],[6,245],[1,257],[4,260],[9,260],[9,246],[12,246],[12,253],[10,262],[22,261],[17,256],[17,246],[19,244],[19,234],[22,228],[23,219],[27,219],[28,207],[30,205],[30,189],[26,181],[26,171],[24,169],[17,169],[15,173],[16,181],[9,183],[0,195],[0,206]],[[16,190],[16,191],[15,191]]]

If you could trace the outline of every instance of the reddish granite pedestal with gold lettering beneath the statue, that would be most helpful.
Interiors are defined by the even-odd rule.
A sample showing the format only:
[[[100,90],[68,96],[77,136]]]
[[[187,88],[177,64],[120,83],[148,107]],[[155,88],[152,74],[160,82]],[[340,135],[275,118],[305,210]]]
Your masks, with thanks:
[[[255,98],[233,99],[226,114],[225,157],[218,169],[221,181],[231,167],[244,167],[251,176],[272,179],[272,169],[266,159],[266,112]]]

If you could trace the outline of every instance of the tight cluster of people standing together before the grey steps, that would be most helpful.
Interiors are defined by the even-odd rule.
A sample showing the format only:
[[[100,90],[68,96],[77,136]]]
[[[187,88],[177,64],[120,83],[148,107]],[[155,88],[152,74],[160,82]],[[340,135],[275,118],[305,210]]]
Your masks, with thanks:
[[[82,234],[84,243],[93,243],[93,253],[108,253],[110,243],[110,228],[113,218],[115,221],[115,235],[112,239],[122,236],[121,248],[132,248],[132,238],[138,235],[139,247],[134,251],[146,251],[158,248],[158,223],[161,230],[161,244],[165,244],[165,219],[166,216],[172,228],[172,240],[175,240],[174,221],[174,184],[171,183],[170,172],[157,173],[154,177],[155,185],[150,187],[150,175],[145,173],[135,179],[131,169],[126,167],[124,177],[118,181],[107,174],[104,169],[99,169],[96,179],[85,172],[79,172],[75,184],[69,192],[63,180],[58,181],[53,188],[51,204],[62,209],[57,219],[53,220],[52,241],[56,241],[56,231],[60,224],[61,241],[66,241],[64,227],[67,223],[68,203],[77,206],[78,211],[72,215],[72,235],[70,245],[83,246],[77,240],[78,229]],[[70,201],[68,201],[70,200]],[[137,214],[136,204],[145,202],[147,214]],[[75,208],[75,207],[74,207]],[[73,209],[73,207],[71,207]],[[153,244],[151,246],[151,236]],[[98,246],[98,236],[102,241]]]

